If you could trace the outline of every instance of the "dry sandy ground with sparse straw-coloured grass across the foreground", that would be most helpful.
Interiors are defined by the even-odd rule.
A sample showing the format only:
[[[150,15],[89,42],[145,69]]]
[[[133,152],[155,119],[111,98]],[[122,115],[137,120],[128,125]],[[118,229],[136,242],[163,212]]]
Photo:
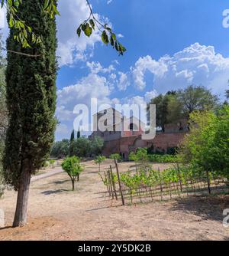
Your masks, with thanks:
[[[105,162],[102,168],[111,162]],[[122,163],[122,170],[131,163]],[[165,168],[166,166],[157,165]],[[34,180],[29,199],[28,225],[0,230],[0,240],[228,240],[222,225],[229,197],[190,198],[147,205],[118,206],[104,197],[104,186],[93,162],[71,192],[64,172]],[[15,211],[16,193],[0,200],[8,225]],[[116,204],[116,205],[115,205]]]

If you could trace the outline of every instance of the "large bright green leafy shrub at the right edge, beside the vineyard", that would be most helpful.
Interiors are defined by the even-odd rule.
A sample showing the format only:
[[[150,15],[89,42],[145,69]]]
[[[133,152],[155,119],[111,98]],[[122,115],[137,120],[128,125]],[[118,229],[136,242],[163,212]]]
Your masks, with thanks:
[[[179,149],[179,159],[201,176],[216,173],[229,179],[229,105],[190,116],[190,133]]]

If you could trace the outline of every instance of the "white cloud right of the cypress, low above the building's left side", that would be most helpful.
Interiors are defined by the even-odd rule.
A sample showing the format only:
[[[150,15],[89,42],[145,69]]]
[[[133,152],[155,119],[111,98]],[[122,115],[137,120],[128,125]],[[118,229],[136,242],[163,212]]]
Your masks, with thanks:
[[[74,107],[77,104],[85,104],[90,110],[92,98],[98,100],[98,108],[102,104],[120,103],[117,98],[111,98],[111,84],[108,79],[94,73],[83,77],[76,84],[57,91],[56,117],[63,126],[56,130],[56,139],[66,137],[65,134],[70,134],[73,130],[73,121],[76,118],[76,114],[73,113]]]

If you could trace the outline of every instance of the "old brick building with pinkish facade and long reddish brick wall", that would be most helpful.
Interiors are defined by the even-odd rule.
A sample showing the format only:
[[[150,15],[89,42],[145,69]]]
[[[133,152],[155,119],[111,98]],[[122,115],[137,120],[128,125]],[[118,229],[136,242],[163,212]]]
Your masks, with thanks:
[[[108,117],[108,120],[103,118],[105,116]],[[100,130],[101,125],[99,124],[103,122],[107,128]],[[112,153],[120,153],[124,159],[127,159],[129,153],[135,152],[139,147],[150,148],[152,152],[168,153],[170,149],[179,145],[189,131],[189,127],[186,120],[179,120],[176,123],[166,124],[165,132],[157,131],[154,139],[144,140],[141,139],[141,134],[144,133],[144,123],[135,117],[123,117],[120,112],[111,108],[94,115],[94,130],[97,131],[92,133],[89,139],[94,136],[100,136],[104,139],[104,156],[108,157]]]

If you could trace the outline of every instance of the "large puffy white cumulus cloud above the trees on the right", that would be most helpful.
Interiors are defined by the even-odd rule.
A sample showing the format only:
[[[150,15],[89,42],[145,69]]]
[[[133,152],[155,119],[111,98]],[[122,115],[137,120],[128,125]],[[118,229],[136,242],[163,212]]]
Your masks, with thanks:
[[[171,57],[160,57],[159,61],[150,56],[140,57],[131,71],[134,84],[140,90],[146,87],[144,77],[150,71],[153,88],[162,93],[190,84],[202,84],[222,95],[229,78],[229,58],[217,54],[213,46],[195,43]]]

